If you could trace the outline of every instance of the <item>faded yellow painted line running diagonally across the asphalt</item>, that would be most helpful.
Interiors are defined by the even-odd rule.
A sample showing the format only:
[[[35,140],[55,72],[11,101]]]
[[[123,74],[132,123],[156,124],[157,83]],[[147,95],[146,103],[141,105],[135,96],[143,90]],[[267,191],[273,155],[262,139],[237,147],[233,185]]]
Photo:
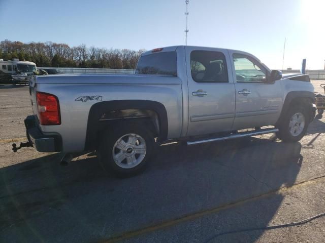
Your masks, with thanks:
[[[129,238],[136,237],[136,236],[139,236],[139,235],[142,235],[142,234],[151,233],[151,232],[156,231],[156,230],[161,230],[161,229],[165,229],[165,228],[168,228],[168,227],[172,227],[174,225],[181,224],[181,223],[184,223],[184,222],[187,222],[187,221],[192,221],[194,219],[197,219],[197,218],[200,218],[200,217],[203,217],[203,216],[215,214],[215,213],[218,213],[218,212],[223,211],[223,210],[232,209],[232,208],[241,206],[243,204],[249,203],[251,201],[257,200],[257,199],[269,197],[271,195],[282,194],[284,192],[287,192],[287,191],[290,191],[290,190],[293,190],[293,189],[296,189],[296,188],[300,188],[300,187],[303,187],[303,186],[312,185],[312,184],[316,184],[316,183],[320,183],[320,182],[325,182],[325,175],[320,176],[320,177],[316,177],[316,178],[312,178],[310,180],[303,181],[303,182],[300,182],[300,183],[297,183],[297,184],[294,184],[291,187],[281,187],[278,190],[269,191],[269,192],[267,192],[265,194],[262,194],[262,195],[242,199],[242,200],[236,201],[235,203],[221,205],[221,206],[219,206],[217,208],[198,211],[198,212],[195,212],[195,213],[192,213],[192,214],[181,216],[180,218],[163,221],[163,222],[157,223],[155,225],[143,227],[143,228],[132,230],[132,231],[126,231],[126,232],[124,232],[122,234],[113,236],[113,237],[111,237],[109,239],[100,240],[99,242],[100,243],[113,243],[113,242],[117,242],[117,241],[120,241],[120,240],[129,239]]]

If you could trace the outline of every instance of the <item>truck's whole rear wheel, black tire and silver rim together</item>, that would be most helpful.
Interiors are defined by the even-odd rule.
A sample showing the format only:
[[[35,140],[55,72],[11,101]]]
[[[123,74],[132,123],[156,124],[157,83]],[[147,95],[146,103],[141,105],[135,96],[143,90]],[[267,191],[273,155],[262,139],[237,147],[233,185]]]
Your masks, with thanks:
[[[154,148],[152,132],[137,123],[126,123],[104,131],[99,146],[99,161],[107,172],[117,177],[131,177],[142,172]]]

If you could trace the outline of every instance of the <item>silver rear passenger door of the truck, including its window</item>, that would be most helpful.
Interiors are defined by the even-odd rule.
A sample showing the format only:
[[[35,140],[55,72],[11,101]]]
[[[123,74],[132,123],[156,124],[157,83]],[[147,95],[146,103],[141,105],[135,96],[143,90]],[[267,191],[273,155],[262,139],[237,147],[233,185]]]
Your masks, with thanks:
[[[231,130],[235,86],[228,52],[186,47],[189,121],[187,136]]]

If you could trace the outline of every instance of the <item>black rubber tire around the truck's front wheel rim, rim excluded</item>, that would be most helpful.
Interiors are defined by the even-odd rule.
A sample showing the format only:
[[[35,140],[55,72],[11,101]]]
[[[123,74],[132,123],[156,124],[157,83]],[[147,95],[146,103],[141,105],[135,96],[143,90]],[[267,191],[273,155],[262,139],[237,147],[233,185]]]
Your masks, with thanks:
[[[294,131],[297,131],[296,135],[293,135],[290,132],[290,121],[291,118],[294,118],[295,114],[302,114],[304,116],[304,127],[300,131],[299,129],[291,128]],[[295,117],[299,117],[301,119],[301,115],[296,115]],[[277,137],[283,142],[298,142],[301,140],[308,129],[310,117],[308,116],[308,112],[304,106],[293,106],[282,119],[281,124],[278,126],[279,132],[276,134]],[[297,124],[297,125],[296,125]],[[297,122],[294,126],[300,126],[301,123]],[[291,130],[291,131],[293,131]]]

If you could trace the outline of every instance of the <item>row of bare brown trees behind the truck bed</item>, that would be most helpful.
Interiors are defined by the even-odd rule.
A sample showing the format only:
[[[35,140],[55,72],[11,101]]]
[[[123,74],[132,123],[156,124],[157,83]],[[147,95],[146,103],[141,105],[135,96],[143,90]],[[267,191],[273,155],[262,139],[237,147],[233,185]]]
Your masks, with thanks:
[[[135,69],[141,53],[129,49],[106,49],[86,47],[81,44],[70,47],[63,43],[31,42],[28,44],[9,41],[0,42],[0,58],[35,62],[38,67],[92,67]]]

